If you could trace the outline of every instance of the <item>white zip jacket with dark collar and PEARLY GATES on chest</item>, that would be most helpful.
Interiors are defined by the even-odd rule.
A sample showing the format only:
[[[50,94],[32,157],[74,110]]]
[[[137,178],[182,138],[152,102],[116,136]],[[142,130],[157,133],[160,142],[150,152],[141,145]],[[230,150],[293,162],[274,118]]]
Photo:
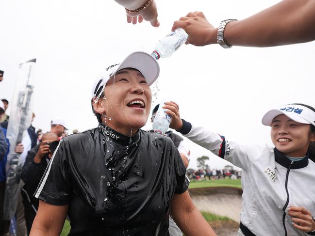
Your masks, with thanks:
[[[315,216],[315,163],[308,156],[300,161],[291,161],[267,145],[242,145],[228,141],[184,120],[180,132],[243,169],[241,230],[238,235],[315,235],[315,232],[295,229],[288,215],[290,206],[303,206]]]

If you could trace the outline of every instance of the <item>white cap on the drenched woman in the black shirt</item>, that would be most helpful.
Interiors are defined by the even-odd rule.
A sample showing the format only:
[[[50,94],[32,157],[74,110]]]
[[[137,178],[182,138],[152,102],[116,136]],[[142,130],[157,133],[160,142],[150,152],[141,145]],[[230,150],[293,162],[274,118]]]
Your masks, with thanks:
[[[140,71],[144,78],[146,78],[149,86],[160,74],[159,63],[152,55],[143,51],[135,51],[127,56],[122,63],[110,65],[105,69],[99,78],[94,81],[91,97],[93,98],[99,91],[99,88],[106,85],[114,73],[124,68],[134,68]]]

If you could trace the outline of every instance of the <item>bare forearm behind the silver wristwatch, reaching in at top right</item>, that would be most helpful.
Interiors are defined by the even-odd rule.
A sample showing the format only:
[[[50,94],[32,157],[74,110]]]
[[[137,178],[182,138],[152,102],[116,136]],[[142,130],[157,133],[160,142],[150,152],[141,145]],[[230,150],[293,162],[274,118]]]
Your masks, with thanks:
[[[235,46],[270,47],[315,40],[315,0],[283,0],[224,30]]]

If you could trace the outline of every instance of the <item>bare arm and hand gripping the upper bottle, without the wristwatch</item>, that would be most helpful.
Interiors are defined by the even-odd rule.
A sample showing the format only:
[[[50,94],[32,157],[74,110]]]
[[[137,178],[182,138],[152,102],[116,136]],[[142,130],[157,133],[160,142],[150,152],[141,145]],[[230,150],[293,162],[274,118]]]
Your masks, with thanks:
[[[282,0],[253,16],[228,23],[224,39],[230,45],[272,47],[315,40],[315,0]],[[224,20],[224,19],[222,19]],[[214,28],[202,12],[175,21],[172,30],[183,28],[195,46],[216,44]]]

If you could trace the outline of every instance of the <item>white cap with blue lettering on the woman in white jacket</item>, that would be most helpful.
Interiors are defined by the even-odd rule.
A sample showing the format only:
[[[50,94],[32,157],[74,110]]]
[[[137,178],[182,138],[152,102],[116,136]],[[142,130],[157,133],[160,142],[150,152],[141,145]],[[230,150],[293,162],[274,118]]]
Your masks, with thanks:
[[[278,109],[269,110],[263,117],[263,125],[271,126],[272,120],[281,114],[286,115],[298,123],[312,124],[315,126],[315,111],[302,104],[288,104]]]

